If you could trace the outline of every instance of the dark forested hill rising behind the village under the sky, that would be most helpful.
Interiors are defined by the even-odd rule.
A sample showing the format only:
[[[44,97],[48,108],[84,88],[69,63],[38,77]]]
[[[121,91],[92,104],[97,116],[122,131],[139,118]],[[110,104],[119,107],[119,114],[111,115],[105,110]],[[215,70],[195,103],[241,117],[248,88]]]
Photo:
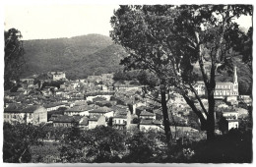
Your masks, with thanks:
[[[88,34],[71,38],[25,40],[23,77],[65,71],[68,79],[115,72],[123,49],[108,36]]]

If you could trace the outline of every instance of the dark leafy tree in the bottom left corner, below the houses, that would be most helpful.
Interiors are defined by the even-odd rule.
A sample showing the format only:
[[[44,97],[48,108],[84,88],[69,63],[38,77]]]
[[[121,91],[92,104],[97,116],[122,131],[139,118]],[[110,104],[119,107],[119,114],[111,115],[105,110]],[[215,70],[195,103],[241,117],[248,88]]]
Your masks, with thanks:
[[[43,126],[4,123],[3,161],[10,163],[30,162],[30,147],[42,144],[46,137]]]

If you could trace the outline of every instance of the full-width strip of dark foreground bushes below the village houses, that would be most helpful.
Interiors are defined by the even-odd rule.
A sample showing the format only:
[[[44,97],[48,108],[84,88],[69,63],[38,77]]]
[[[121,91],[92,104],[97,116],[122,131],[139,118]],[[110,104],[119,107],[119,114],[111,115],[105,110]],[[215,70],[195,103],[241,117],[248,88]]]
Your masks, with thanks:
[[[125,132],[103,126],[57,131],[48,125],[5,123],[3,154],[9,163],[250,163],[252,133],[231,130],[212,141],[189,137],[167,146],[164,134],[154,131]]]

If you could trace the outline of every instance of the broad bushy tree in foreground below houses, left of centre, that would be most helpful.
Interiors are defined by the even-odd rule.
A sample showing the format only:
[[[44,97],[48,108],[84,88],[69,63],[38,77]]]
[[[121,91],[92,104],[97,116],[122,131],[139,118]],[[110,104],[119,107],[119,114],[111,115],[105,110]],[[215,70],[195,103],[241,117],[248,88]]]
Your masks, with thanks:
[[[60,149],[64,162],[116,162],[124,150],[124,136],[110,127],[72,130],[62,139]]]

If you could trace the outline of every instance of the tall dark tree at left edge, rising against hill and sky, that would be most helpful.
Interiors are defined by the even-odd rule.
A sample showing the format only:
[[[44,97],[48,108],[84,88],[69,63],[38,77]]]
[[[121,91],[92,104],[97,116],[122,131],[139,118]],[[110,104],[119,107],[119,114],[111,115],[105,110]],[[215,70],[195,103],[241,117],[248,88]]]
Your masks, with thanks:
[[[4,72],[4,88],[12,88],[11,80],[19,80],[22,73],[22,67],[25,64],[24,47],[22,33],[16,28],[4,31],[5,38],[5,72]]]

